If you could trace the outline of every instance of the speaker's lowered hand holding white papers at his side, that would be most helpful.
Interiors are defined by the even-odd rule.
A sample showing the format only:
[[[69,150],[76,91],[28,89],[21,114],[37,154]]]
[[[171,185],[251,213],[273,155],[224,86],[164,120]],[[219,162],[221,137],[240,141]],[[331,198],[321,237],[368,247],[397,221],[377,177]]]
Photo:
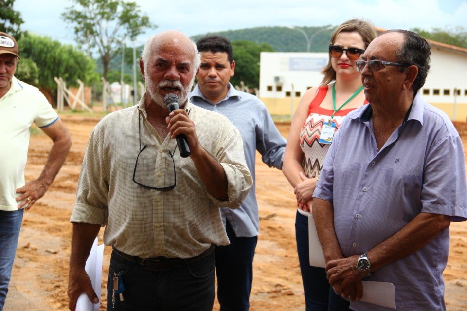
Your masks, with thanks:
[[[98,303],[99,298],[92,288],[89,275],[84,268],[70,269],[68,276],[68,308],[72,311],[76,309],[76,301],[81,293],[85,292],[90,301]]]

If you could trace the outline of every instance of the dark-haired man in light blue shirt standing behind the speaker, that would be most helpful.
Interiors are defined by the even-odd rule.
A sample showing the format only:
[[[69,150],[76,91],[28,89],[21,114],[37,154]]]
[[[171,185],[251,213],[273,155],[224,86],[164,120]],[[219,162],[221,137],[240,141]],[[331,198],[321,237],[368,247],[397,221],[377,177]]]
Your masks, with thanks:
[[[215,250],[217,299],[221,311],[248,310],[253,280],[253,256],[258,241],[259,215],[255,194],[256,150],[269,167],[282,168],[286,139],[279,133],[266,106],[255,96],[237,91],[232,45],[225,37],[209,35],[197,42],[201,53],[198,83],[190,102],[225,115],[240,131],[253,187],[242,205],[221,209],[230,245]]]

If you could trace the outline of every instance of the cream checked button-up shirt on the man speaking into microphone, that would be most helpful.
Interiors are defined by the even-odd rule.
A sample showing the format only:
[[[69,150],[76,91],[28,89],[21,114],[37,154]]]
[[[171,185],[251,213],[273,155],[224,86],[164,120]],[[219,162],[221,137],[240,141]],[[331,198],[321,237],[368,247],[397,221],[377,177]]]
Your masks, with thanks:
[[[81,174],[72,222],[106,226],[104,243],[143,258],[190,258],[211,244],[228,245],[219,208],[236,208],[252,185],[240,133],[219,113],[187,103],[199,143],[222,165],[228,179],[228,201],[209,194],[190,157],[180,157],[175,139],[158,138],[146,119],[144,96],[138,106],[108,114],[92,130]],[[176,187],[151,190],[133,182],[138,159],[138,182],[151,187],[174,183],[169,150],[175,150]]]

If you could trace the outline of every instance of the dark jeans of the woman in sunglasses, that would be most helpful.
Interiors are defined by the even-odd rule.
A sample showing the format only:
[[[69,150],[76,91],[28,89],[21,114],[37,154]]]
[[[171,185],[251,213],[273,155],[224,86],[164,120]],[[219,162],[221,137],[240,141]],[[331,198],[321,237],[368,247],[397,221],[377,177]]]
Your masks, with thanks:
[[[324,268],[310,266],[308,243],[308,217],[297,211],[295,238],[302,272],[306,311],[346,311],[350,303],[334,293]]]

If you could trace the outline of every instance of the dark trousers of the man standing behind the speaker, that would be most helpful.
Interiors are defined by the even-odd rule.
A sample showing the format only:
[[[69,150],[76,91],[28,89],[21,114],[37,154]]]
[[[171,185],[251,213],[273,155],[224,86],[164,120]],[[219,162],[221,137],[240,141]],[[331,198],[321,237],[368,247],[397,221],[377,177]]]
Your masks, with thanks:
[[[229,222],[225,228],[230,245],[217,246],[217,300],[221,311],[247,311],[253,281],[253,257],[258,237],[236,237]]]

